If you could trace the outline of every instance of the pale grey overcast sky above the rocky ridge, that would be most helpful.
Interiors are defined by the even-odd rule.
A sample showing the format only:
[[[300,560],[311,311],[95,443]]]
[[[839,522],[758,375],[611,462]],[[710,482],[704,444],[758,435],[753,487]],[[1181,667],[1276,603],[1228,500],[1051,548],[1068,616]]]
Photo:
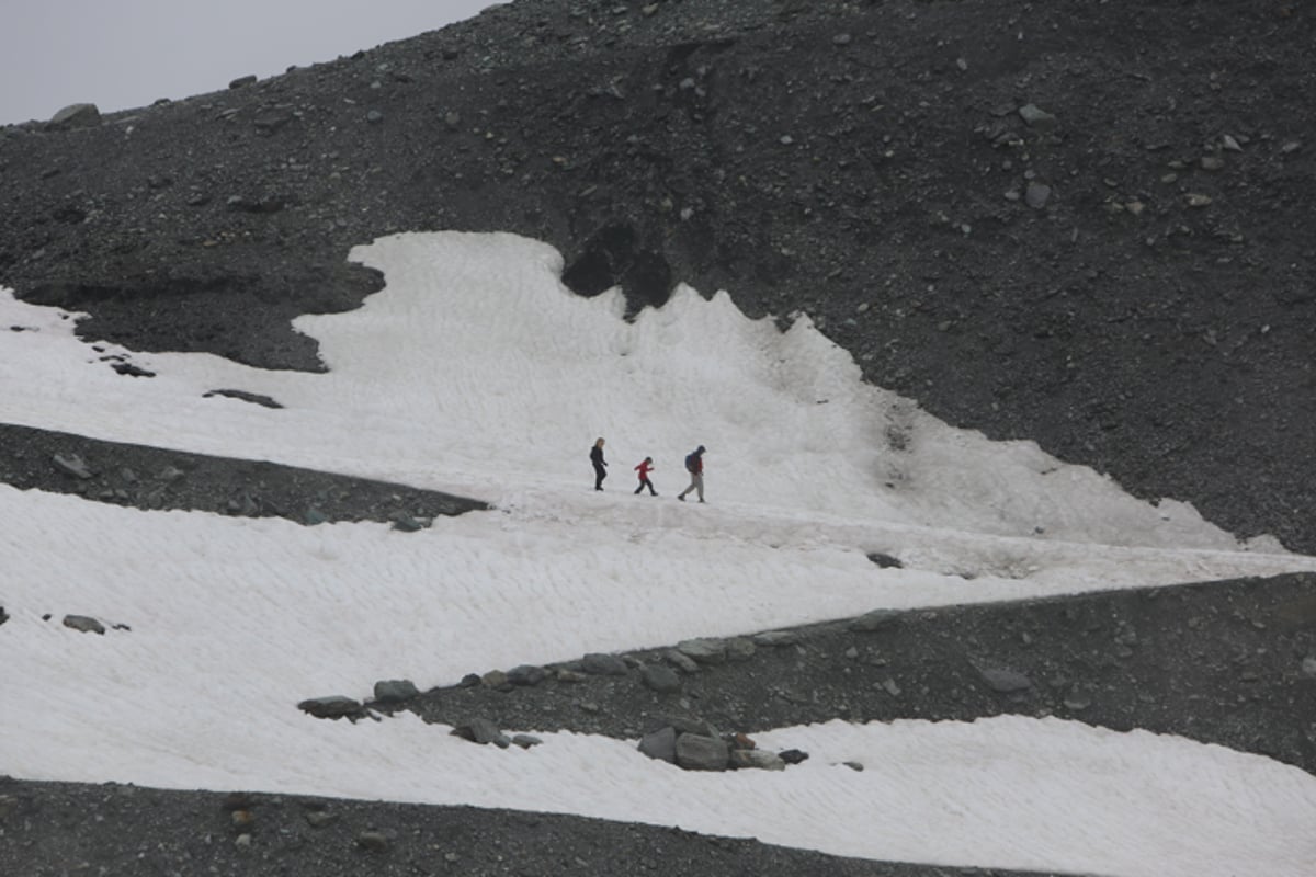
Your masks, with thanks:
[[[497,0],[0,0],[0,125],[217,91],[468,18]]]

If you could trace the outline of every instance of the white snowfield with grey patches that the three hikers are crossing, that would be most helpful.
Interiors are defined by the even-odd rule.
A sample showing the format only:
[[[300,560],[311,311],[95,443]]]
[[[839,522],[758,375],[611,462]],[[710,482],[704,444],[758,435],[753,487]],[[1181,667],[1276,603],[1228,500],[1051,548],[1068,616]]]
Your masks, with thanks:
[[[620,291],[576,297],[557,251],[505,234],[401,234],[353,258],[386,289],[296,322],[326,373],[93,350],[76,314],[0,291],[0,326],[21,329],[0,335],[0,421],[494,506],[404,534],[0,485],[0,774],[575,813],[946,865],[1312,873],[1316,777],[1141,731],[830,722],[755,735],[811,753],[787,772],[699,774],[634,740],[542,734],[501,751],[409,715],[304,715],[300,699],[366,697],[380,678],[425,689],[879,607],[1316,569],[1033,443],[950,429],[865,385],[803,317],[780,333],[726,293],[679,288],[626,322]],[[697,444],[708,505],[679,504]],[[657,498],[630,494],[646,455]],[[68,613],[130,630],[80,635],[59,626]]]

